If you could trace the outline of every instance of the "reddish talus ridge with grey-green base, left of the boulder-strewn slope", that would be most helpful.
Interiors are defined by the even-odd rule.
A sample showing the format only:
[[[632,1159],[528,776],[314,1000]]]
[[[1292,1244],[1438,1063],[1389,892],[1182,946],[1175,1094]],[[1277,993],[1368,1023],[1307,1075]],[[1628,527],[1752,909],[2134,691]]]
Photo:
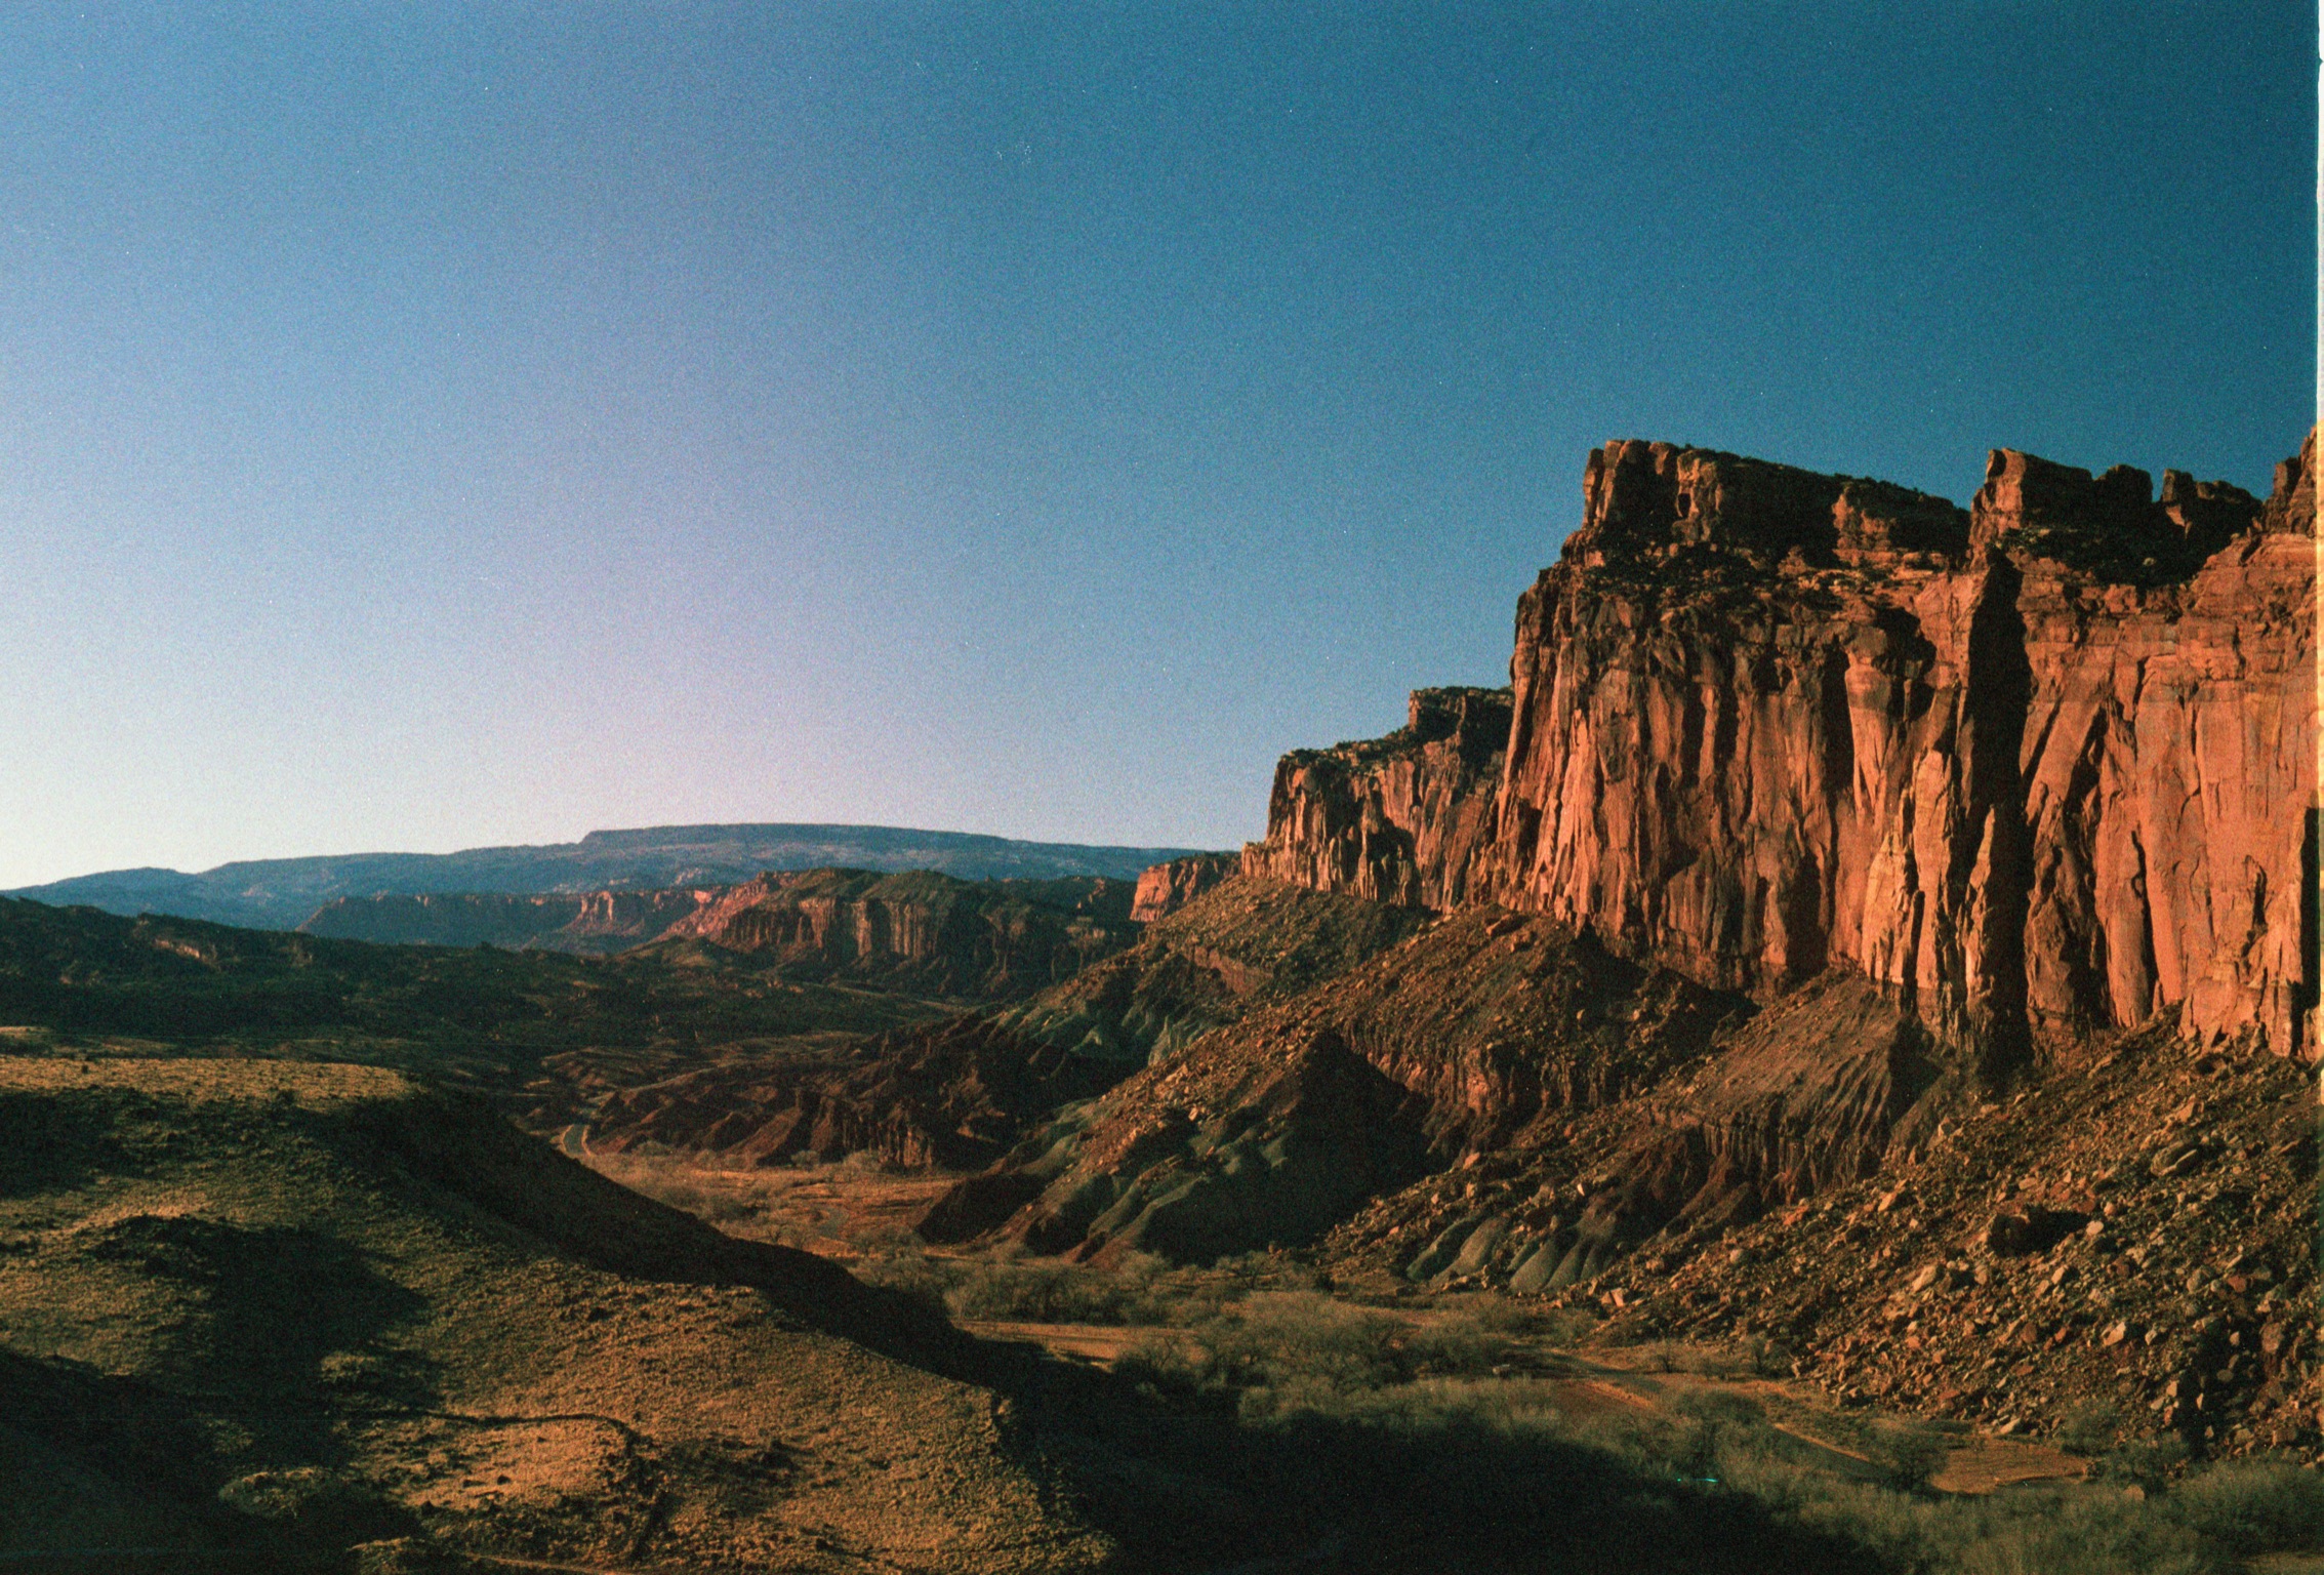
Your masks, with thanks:
[[[1006,1231],[1039,1252],[1301,1245],[1383,1187],[1562,1141],[1578,1110],[1652,1087],[1748,1011],[1471,908],[1157,1055],[962,1194],[1016,1199]],[[941,1229],[974,1217],[964,1199]]]

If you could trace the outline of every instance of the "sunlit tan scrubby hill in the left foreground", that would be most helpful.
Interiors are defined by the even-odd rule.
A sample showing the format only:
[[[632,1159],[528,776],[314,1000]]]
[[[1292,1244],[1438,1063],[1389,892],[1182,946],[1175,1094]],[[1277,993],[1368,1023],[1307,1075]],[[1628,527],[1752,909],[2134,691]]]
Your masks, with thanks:
[[[0,1057],[0,1243],[12,1559],[1106,1554],[941,1324],[390,1071]]]

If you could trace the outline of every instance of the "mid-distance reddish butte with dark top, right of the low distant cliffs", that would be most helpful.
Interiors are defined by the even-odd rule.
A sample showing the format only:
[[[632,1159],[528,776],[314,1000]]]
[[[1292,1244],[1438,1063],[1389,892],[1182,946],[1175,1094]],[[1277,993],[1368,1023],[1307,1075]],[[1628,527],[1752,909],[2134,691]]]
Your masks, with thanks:
[[[1136,941],[1132,885],[955,880],[932,871],[769,871],[672,925],[799,980],[1002,1001],[1081,973]]]

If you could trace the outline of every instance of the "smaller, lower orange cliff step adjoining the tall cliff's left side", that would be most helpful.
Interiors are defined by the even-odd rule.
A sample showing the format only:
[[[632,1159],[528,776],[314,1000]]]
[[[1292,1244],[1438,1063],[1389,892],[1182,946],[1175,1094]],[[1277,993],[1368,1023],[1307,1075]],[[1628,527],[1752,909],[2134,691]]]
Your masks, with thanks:
[[[1385,739],[1285,755],[1243,873],[1406,908],[1471,899],[1508,722],[1508,690],[1413,690]]]

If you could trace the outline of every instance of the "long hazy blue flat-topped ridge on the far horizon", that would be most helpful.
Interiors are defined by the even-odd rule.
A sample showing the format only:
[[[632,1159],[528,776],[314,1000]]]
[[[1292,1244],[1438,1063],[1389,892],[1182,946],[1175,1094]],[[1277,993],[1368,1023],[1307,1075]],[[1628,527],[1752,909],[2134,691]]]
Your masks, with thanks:
[[[449,892],[574,894],[739,885],[769,869],[932,869],[962,880],[1136,880],[1195,848],[1032,843],[976,832],[881,825],[672,825],[590,832],[576,843],[462,853],[346,853],[239,860],[200,873],[112,869],[7,892],[107,913],[170,913],[251,929],[297,929],[342,897]]]

